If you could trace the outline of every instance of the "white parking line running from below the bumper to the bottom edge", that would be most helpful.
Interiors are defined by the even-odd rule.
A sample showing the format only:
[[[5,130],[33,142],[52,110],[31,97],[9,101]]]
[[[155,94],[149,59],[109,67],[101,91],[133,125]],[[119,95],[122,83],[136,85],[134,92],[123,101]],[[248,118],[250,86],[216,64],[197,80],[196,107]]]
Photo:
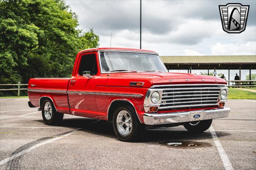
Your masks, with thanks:
[[[214,141],[215,146],[218,149],[218,152],[220,154],[220,158],[223,162],[224,168],[226,170],[234,170],[234,168],[232,167],[232,164],[228,158],[228,155],[226,154],[224,148],[222,147],[222,144],[220,143],[220,140],[218,139],[218,136],[214,130],[214,128],[212,127],[212,125],[209,128],[211,134],[212,134],[212,139]]]

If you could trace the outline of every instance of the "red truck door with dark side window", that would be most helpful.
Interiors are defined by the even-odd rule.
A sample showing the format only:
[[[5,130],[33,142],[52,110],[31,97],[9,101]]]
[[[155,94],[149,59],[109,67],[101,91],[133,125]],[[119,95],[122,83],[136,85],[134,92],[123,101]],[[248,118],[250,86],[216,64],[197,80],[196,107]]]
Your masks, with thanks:
[[[71,77],[68,85],[68,98],[72,115],[98,117],[95,89],[99,69],[97,53],[86,53],[80,56],[76,75]],[[92,78],[84,77],[83,71],[90,71]]]

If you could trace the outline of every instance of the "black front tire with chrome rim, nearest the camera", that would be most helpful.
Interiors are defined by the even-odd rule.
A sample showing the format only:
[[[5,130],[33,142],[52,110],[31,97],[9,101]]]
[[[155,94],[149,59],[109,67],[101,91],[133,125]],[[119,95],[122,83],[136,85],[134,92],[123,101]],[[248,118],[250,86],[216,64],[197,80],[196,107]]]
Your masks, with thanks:
[[[130,106],[121,106],[114,111],[113,128],[116,136],[122,141],[134,141],[143,130],[136,112]]]

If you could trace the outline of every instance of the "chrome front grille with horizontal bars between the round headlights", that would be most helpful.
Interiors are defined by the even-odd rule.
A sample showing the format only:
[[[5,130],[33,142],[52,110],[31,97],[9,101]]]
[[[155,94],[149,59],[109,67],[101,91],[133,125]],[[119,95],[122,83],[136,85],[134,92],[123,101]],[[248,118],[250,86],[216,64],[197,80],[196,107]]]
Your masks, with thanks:
[[[218,107],[221,84],[154,85],[162,90],[158,111]]]

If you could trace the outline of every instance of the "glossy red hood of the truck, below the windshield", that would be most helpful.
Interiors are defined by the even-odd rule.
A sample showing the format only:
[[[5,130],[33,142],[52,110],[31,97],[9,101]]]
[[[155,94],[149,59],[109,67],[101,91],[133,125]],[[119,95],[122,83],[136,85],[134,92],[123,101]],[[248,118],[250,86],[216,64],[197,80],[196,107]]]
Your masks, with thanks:
[[[130,82],[144,82],[144,88],[150,88],[152,85],[165,84],[194,84],[194,83],[211,83],[211,84],[227,84],[224,79],[208,76],[194,75],[189,73],[162,73],[162,72],[124,72],[110,73],[107,86],[117,87],[134,87],[130,86]]]

